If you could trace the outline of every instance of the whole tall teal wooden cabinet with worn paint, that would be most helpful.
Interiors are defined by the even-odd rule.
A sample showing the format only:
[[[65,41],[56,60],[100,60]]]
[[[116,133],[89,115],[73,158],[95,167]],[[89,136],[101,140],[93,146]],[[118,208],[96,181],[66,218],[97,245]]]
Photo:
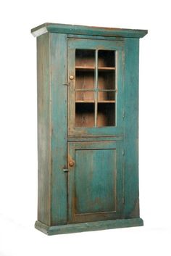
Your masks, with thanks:
[[[38,220],[45,234],[143,226],[138,51],[147,30],[45,23],[37,37]]]

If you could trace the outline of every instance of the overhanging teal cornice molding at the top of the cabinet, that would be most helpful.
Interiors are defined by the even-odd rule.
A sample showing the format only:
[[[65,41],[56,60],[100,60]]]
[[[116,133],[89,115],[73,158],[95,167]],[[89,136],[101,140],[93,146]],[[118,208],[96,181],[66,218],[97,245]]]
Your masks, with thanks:
[[[142,38],[148,30],[125,29],[125,28],[100,28],[83,25],[67,25],[57,23],[43,23],[31,30],[33,36],[41,36],[44,33],[64,33],[88,36],[117,36],[125,38]]]

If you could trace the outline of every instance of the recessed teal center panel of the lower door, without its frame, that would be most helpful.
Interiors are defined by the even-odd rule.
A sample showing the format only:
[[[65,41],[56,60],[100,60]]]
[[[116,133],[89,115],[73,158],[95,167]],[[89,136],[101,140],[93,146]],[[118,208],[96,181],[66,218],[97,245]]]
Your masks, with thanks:
[[[76,211],[115,211],[116,149],[76,150],[75,163]]]

